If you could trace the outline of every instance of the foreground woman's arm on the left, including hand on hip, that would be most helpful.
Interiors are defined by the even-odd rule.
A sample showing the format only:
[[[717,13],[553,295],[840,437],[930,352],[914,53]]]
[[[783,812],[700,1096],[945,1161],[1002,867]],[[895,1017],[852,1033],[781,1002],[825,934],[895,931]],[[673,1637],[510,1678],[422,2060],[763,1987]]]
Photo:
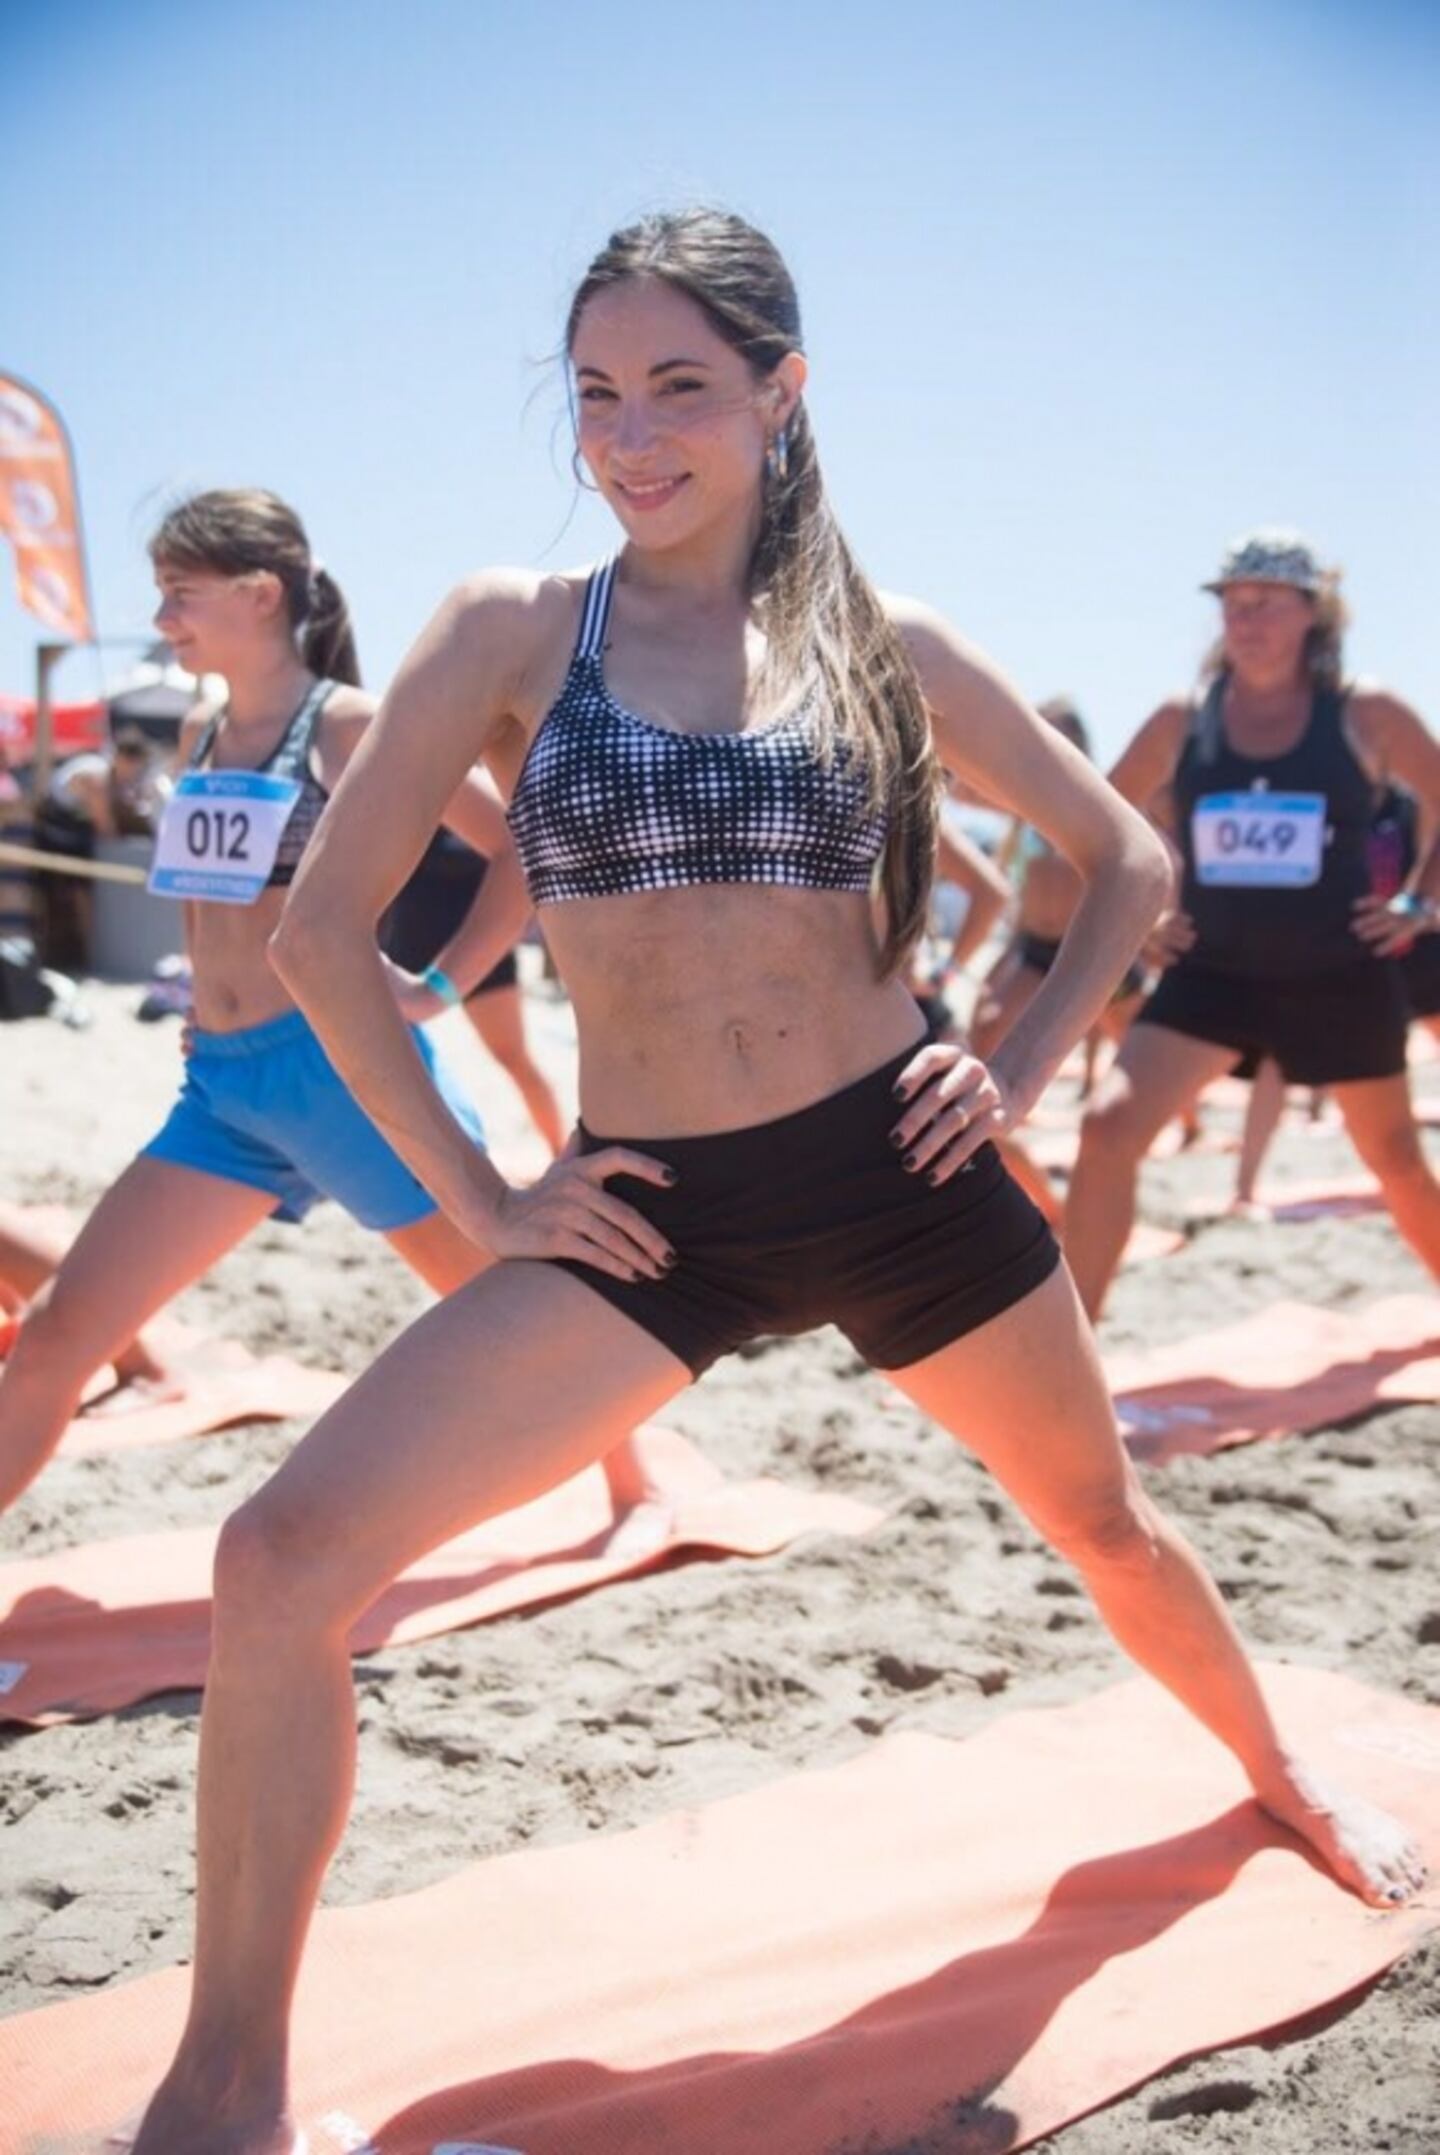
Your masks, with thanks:
[[[619,1278],[657,1276],[664,1237],[604,1179],[623,1168],[657,1183],[668,1172],[610,1146],[513,1190],[429,1082],[375,940],[466,771],[543,651],[569,636],[569,610],[558,580],[522,573],[451,593],[345,767],[269,953],[349,1090],[461,1233],[498,1256],[576,1256]]]

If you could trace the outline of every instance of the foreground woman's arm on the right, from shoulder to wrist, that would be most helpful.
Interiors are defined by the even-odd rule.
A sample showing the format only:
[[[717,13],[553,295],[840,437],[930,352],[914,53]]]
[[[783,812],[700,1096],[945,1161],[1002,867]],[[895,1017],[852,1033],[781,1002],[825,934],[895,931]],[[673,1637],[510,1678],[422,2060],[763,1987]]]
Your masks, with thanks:
[[[994,1052],[989,1075],[1000,1110],[972,1118],[970,1129],[981,1121],[987,1127],[955,1162],[964,1164],[974,1144],[1028,1114],[1106,1009],[1171,899],[1173,871],[1147,819],[989,659],[910,599],[888,601],[888,610],[920,677],[940,761],[961,784],[1033,823],[1082,879],[1080,905],[1046,985]]]

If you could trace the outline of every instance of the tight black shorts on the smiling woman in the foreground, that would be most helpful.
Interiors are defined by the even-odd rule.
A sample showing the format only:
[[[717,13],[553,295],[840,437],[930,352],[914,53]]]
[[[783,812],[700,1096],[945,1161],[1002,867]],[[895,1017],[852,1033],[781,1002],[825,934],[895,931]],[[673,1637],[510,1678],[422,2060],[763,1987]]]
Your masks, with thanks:
[[[920,1043],[916,1041],[916,1047]],[[673,1190],[606,1183],[677,1252],[664,1280],[554,1259],[698,1377],[761,1334],[839,1325],[875,1368],[905,1368],[1022,1302],[1061,1261],[1043,1215],[983,1144],[938,1190],[901,1168],[903,1112],[882,1069],[774,1123],[711,1138],[601,1138],[675,1168]]]

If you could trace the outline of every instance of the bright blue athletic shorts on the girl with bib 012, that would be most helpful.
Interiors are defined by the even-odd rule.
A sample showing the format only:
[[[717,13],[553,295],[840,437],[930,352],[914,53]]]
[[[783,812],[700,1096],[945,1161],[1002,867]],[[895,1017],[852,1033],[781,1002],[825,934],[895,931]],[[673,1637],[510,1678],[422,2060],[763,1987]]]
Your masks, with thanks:
[[[425,1034],[412,1028],[412,1037],[446,1108],[483,1144],[479,1114]],[[438,1211],[300,1011],[244,1032],[196,1030],[181,1097],[142,1157],[272,1190],[276,1220],[304,1220],[317,1198],[334,1198],[379,1231]]]

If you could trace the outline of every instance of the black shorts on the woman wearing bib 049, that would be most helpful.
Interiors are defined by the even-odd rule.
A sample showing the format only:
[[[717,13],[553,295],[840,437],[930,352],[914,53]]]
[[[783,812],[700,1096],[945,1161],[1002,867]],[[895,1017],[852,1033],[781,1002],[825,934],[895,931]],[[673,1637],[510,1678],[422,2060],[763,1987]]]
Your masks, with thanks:
[[[1289,1084],[1356,1084],[1399,1078],[1408,1017],[1399,965],[1386,959],[1362,957],[1283,981],[1207,972],[1179,959],[1136,1024],[1233,1047],[1242,1075],[1272,1058]]]

